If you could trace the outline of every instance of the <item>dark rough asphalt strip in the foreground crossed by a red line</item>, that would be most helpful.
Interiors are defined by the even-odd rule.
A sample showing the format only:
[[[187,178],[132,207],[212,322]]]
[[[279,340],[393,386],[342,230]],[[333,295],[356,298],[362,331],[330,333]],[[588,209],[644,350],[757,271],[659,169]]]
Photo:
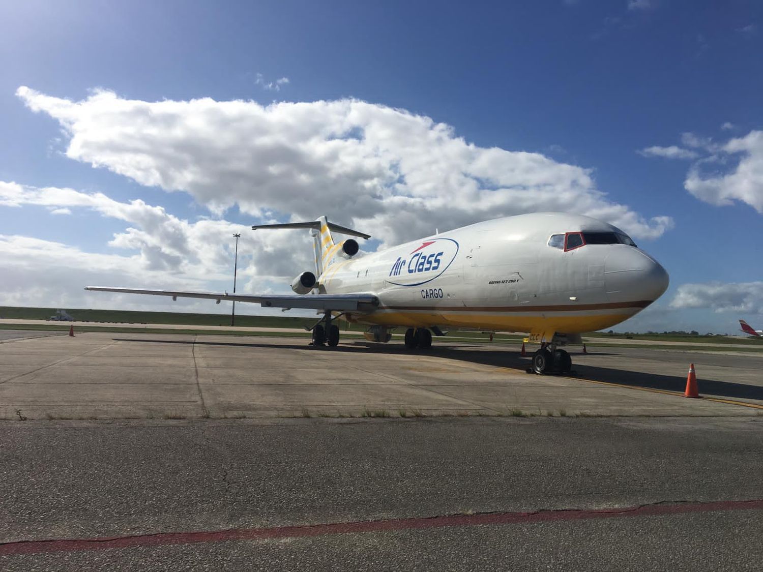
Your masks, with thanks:
[[[761,418],[5,422],[2,570],[760,570]]]

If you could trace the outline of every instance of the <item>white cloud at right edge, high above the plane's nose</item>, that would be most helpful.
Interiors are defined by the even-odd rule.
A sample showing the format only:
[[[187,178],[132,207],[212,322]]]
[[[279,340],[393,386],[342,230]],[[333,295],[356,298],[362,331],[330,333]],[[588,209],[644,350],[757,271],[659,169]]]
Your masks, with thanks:
[[[740,201],[763,214],[763,131],[752,130],[745,137],[732,138],[726,143],[715,143],[710,137],[683,133],[681,142],[692,149],[654,146],[639,153],[644,156],[697,158],[684,180],[684,188],[694,197],[716,206]],[[728,165],[732,165],[730,169]]]

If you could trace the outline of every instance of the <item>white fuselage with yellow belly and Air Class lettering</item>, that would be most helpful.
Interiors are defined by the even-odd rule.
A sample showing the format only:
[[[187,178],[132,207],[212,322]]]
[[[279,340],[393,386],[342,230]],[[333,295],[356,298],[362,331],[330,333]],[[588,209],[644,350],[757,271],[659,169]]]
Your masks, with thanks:
[[[624,236],[590,217],[524,214],[349,260],[328,249],[318,284],[325,294],[378,296],[375,312],[349,314],[360,323],[531,332],[546,339],[613,326],[668,287],[665,269],[636,246],[549,244],[552,236],[578,232]]]

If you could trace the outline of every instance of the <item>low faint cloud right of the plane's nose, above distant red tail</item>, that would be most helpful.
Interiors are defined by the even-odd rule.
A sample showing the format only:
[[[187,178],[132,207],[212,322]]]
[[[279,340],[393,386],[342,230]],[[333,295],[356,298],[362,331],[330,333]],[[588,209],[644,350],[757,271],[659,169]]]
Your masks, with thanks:
[[[681,284],[670,305],[673,308],[763,314],[763,282]]]

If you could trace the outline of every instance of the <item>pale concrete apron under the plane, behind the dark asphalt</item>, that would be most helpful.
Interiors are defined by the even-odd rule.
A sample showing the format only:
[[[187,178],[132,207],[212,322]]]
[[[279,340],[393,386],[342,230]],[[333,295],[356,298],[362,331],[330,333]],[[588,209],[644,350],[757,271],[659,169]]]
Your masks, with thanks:
[[[763,355],[599,348],[576,376],[527,374],[505,344],[78,333],[0,343],[4,419],[282,416],[755,416]],[[686,399],[688,365],[702,399]]]

